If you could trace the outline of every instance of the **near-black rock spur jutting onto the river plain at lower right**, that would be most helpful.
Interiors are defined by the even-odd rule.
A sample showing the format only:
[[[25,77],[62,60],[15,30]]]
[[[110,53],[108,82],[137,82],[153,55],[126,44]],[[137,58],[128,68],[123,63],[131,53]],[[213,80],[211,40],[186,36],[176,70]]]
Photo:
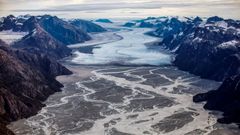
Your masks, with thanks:
[[[194,96],[193,101],[207,101],[204,108],[224,112],[221,123],[239,123],[240,75],[227,78],[218,90]]]

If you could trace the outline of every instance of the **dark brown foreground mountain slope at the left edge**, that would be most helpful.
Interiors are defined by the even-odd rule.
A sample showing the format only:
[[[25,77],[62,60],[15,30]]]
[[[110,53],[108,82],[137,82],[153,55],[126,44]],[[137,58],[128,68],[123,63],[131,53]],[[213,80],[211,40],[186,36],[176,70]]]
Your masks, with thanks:
[[[71,71],[40,53],[8,47],[0,41],[0,133],[12,134],[5,125],[36,114],[42,101],[62,85],[58,75]]]

